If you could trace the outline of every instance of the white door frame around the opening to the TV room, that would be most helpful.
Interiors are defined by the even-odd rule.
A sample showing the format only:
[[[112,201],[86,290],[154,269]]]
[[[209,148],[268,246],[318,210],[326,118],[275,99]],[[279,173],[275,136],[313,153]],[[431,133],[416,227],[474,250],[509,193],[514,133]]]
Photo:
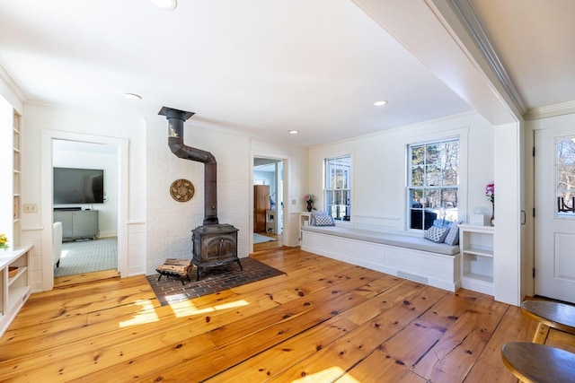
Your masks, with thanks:
[[[116,188],[118,195],[118,260],[121,277],[128,276],[128,140],[101,135],[84,135],[56,130],[41,131],[41,213],[42,213],[42,290],[54,288],[52,265],[53,179],[52,141],[66,140],[116,146],[118,172]]]

